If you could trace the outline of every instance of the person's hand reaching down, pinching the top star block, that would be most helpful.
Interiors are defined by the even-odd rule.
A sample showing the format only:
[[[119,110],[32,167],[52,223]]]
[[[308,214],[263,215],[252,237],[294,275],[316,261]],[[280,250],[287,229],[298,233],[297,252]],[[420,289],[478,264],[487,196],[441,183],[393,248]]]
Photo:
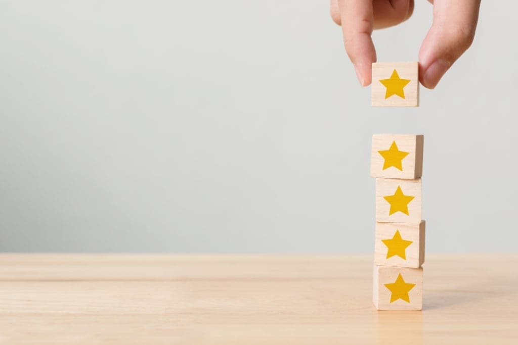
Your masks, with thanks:
[[[434,21],[419,51],[419,79],[435,88],[444,73],[471,46],[481,0],[428,0]],[[362,86],[372,82],[375,29],[394,26],[412,15],[414,0],[331,0],[331,17],[342,26],[343,42]]]

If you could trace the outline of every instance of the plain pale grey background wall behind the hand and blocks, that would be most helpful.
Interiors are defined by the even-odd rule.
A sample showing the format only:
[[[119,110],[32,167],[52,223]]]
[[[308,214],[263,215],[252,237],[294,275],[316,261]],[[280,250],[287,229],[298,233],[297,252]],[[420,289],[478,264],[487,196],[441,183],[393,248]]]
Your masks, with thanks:
[[[327,2],[0,7],[1,251],[372,252],[383,132],[425,134],[428,251],[517,248],[516,2],[418,109],[370,107]],[[379,61],[430,23],[416,0]]]

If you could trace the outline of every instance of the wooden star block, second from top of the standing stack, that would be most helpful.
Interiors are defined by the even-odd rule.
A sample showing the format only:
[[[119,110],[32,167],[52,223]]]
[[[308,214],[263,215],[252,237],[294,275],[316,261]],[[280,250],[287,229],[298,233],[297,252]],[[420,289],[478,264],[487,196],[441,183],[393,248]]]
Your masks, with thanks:
[[[421,178],[376,178],[376,221],[421,222]]]

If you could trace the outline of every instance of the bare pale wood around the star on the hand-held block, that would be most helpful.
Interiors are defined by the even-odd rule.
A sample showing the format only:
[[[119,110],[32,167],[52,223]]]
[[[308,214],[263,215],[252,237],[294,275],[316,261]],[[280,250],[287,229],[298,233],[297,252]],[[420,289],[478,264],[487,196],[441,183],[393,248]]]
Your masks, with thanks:
[[[400,79],[410,80],[403,88],[405,98],[386,97],[387,88],[380,80],[390,79],[394,70]],[[372,64],[372,107],[419,107],[418,62],[378,62]]]

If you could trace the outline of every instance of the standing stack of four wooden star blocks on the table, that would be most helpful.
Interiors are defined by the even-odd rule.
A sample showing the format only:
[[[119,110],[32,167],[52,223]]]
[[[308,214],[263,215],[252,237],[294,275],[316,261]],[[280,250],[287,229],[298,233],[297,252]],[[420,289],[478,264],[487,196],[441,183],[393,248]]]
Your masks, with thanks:
[[[372,301],[378,310],[421,310],[425,221],[421,220],[423,136],[372,136],[376,244]]]

